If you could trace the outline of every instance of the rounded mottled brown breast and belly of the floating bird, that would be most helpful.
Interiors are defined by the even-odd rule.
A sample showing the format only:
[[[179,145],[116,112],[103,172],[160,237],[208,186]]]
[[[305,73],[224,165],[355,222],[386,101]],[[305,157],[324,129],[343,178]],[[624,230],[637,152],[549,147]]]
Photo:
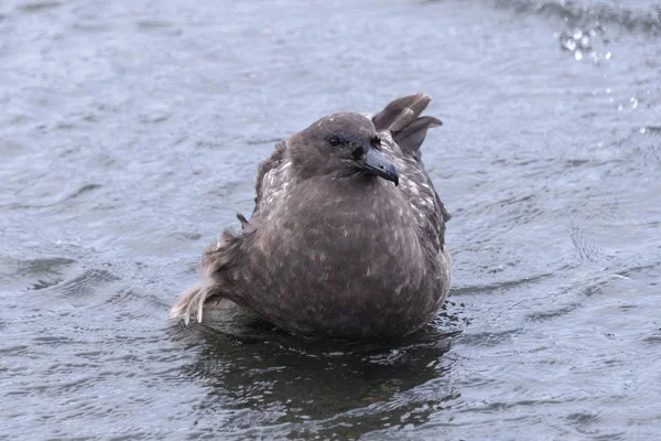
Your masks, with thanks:
[[[382,184],[392,189],[293,189],[251,239],[250,267],[264,293],[251,286],[248,303],[302,333],[379,335],[429,320],[443,281],[409,204]]]

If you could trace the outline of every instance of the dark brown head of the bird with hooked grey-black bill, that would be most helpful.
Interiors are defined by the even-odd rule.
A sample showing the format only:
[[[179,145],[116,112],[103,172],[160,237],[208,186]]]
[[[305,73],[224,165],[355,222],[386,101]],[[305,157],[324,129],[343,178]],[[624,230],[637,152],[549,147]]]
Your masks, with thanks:
[[[375,125],[360,114],[324,117],[290,138],[288,150],[304,178],[366,175],[399,184],[398,171],[381,151]]]

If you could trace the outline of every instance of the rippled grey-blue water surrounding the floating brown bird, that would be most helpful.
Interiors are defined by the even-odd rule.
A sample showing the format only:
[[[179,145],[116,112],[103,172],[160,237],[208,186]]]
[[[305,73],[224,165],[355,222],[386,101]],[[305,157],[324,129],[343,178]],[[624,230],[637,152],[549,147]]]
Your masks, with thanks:
[[[0,439],[658,439],[660,11],[2,2]],[[435,323],[167,322],[278,139],[415,92],[454,215]]]

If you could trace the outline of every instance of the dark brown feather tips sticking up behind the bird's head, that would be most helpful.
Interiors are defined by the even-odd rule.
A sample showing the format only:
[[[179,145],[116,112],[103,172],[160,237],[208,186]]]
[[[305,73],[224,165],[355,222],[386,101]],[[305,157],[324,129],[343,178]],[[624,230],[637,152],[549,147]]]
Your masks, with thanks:
[[[427,129],[443,125],[440,119],[420,117],[431,100],[425,94],[398,98],[373,117],[375,127],[378,131],[390,130],[403,152],[420,158],[419,149]]]

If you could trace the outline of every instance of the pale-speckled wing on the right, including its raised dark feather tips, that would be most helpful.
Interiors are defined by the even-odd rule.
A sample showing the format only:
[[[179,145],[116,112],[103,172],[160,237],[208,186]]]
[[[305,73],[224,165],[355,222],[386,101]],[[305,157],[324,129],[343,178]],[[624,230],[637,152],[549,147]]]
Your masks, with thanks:
[[[430,127],[441,120],[420,115],[432,98],[416,94],[395,99],[378,112],[372,122],[382,138],[382,149],[394,162],[400,174],[401,191],[418,218],[430,244],[443,249],[445,223],[451,215],[441,202],[434,184],[424,170],[420,146]]]

